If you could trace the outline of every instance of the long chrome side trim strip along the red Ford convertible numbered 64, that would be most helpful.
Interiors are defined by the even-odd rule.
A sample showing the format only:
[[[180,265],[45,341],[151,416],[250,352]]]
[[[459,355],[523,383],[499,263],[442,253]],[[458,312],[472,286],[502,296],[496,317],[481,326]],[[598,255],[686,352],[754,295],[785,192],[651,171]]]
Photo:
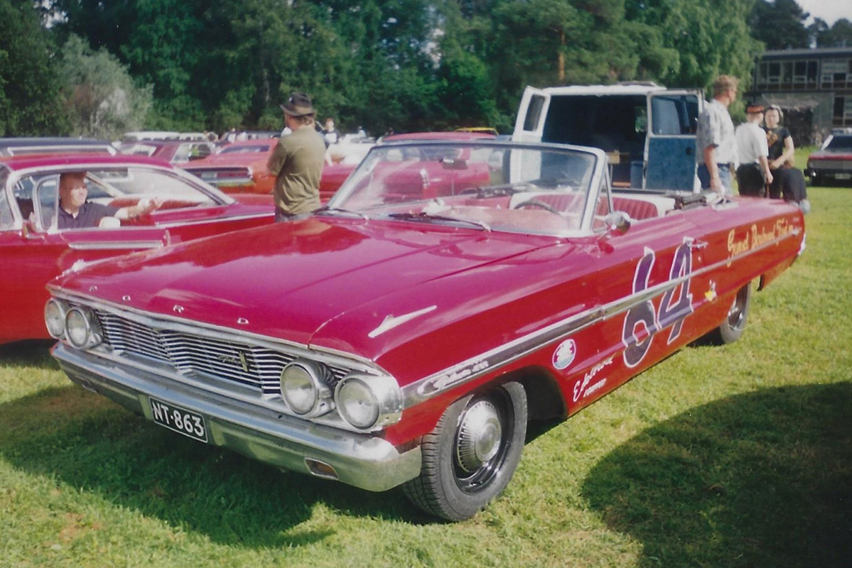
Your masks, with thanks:
[[[723,261],[718,261],[710,266],[701,267],[688,276],[667,280],[662,284],[657,284],[637,294],[626,295],[624,298],[609,302],[604,306],[593,307],[583,313],[578,313],[555,324],[550,324],[541,330],[533,331],[526,336],[519,337],[515,341],[504,343],[500,347],[495,347],[491,351],[481,353],[462,363],[452,365],[452,367],[448,367],[445,370],[440,370],[437,373],[423,377],[423,379],[412,382],[402,388],[403,408],[410,408],[415,404],[432,399],[452,387],[458,387],[467,382],[474,381],[487,373],[491,373],[517,359],[521,359],[546,343],[560,341],[580,330],[584,330],[590,325],[614,318],[621,313],[626,313],[631,307],[651,300],[658,295],[665,294],[666,291],[676,288],[690,278],[702,276],[705,273],[711,273],[721,267],[726,267],[734,261],[740,261],[748,255],[757,253],[770,246],[775,246],[786,238],[796,237],[798,233],[798,230],[792,230],[771,241],[759,244],[746,252],[731,256]]]

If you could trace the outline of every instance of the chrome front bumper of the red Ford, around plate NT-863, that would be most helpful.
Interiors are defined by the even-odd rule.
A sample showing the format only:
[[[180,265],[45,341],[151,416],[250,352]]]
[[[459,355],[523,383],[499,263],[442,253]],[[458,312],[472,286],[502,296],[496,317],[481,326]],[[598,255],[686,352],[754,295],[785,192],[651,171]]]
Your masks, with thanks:
[[[400,453],[375,436],[228,399],[62,343],[56,344],[52,353],[73,382],[152,421],[151,397],[193,410],[204,416],[210,444],[239,451],[259,462],[337,479],[368,491],[386,491],[420,474],[419,446]]]

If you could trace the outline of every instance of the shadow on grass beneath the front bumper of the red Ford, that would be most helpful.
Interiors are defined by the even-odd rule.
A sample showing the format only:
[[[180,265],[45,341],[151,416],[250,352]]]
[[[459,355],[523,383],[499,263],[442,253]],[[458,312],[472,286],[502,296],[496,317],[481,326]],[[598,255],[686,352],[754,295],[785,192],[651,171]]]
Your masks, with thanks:
[[[171,433],[72,385],[0,404],[0,433],[0,456],[16,468],[228,545],[319,541],[334,529],[290,529],[320,503],[353,516],[416,521],[399,490],[374,494],[283,473]]]

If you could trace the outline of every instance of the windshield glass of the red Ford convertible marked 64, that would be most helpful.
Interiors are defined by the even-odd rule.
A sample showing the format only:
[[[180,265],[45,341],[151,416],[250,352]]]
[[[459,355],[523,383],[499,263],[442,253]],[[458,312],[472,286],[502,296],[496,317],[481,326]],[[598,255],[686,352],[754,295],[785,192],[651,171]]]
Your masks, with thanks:
[[[565,146],[386,143],[371,149],[325,209],[496,231],[576,232],[597,197],[592,189],[601,186],[600,161]]]

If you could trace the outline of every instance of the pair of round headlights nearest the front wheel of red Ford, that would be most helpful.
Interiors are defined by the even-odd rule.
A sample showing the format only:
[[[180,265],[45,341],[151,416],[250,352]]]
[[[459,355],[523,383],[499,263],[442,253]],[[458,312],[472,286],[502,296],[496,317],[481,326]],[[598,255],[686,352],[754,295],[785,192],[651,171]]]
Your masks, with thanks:
[[[325,365],[296,359],[281,371],[281,398],[296,416],[314,418],[337,408],[349,426],[371,430],[400,420],[402,392],[394,378],[360,373],[334,378]]]

